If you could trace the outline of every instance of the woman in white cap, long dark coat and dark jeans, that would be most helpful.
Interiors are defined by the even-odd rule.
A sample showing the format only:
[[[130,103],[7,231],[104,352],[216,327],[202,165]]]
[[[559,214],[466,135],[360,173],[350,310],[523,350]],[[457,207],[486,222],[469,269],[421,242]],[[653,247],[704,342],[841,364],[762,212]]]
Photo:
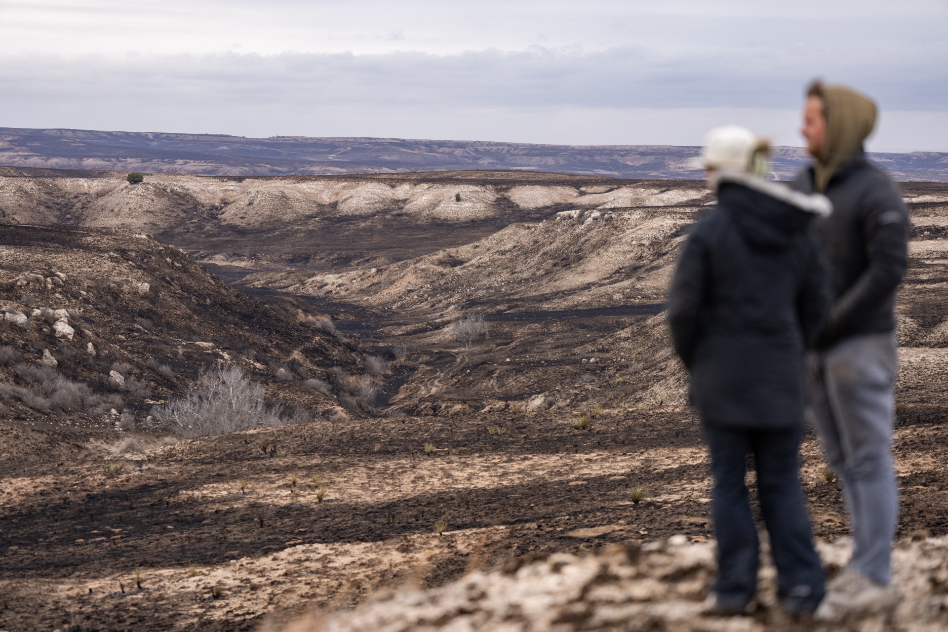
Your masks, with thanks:
[[[757,173],[766,145],[740,127],[718,128],[702,152],[718,206],[693,226],[668,300],[675,351],[691,373],[715,487],[719,574],[711,609],[748,609],[757,591],[757,530],[744,484],[754,455],[757,492],[778,573],[794,614],[825,593],[799,481],[803,358],[825,316],[818,246],[809,226],[831,211]]]

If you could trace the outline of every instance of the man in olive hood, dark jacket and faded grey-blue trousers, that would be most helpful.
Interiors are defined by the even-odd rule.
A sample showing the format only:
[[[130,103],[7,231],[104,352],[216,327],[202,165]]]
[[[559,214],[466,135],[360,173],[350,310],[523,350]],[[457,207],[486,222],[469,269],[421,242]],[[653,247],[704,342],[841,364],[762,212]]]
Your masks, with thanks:
[[[814,164],[793,188],[824,193],[833,213],[815,225],[832,302],[811,356],[811,409],[843,484],[853,551],[820,615],[891,601],[890,554],[898,520],[891,442],[895,293],[907,262],[908,214],[888,176],[866,160],[876,106],[840,85],[811,85],[803,135]]]

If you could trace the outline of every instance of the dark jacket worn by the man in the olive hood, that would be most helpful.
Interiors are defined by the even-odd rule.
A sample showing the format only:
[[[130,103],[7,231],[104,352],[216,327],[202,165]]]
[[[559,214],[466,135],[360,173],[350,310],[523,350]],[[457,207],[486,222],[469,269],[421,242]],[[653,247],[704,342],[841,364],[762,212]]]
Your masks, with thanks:
[[[813,190],[813,169],[793,189]],[[902,193],[859,153],[835,172],[826,196],[833,212],[815,223],[827,265],[832,305],[817,346],[895,329],[895,293],[908,262],[908,211]]]

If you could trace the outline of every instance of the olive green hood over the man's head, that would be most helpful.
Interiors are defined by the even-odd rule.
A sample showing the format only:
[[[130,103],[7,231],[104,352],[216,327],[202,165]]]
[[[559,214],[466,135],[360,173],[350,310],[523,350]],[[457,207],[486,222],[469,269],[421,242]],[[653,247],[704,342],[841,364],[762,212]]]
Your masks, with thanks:
[[[830,178],[863,150],[863,141],[876,125],[876,104],[866,95],[845,85],[816,83],[811,94],[825,105],[827,138],[816,158],[814,189],[824,192]]]

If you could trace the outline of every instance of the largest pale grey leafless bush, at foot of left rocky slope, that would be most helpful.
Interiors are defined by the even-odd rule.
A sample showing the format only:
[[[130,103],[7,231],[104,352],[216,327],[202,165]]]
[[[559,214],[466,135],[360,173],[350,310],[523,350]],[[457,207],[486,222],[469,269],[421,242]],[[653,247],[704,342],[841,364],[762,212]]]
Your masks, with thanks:
[[[202,370],[184,399],[156,406],[158,427],[181,437],[238,432],[261,426],[283,425],[280,406],[266,406],[264,387],[252,383],[236,365]]]

